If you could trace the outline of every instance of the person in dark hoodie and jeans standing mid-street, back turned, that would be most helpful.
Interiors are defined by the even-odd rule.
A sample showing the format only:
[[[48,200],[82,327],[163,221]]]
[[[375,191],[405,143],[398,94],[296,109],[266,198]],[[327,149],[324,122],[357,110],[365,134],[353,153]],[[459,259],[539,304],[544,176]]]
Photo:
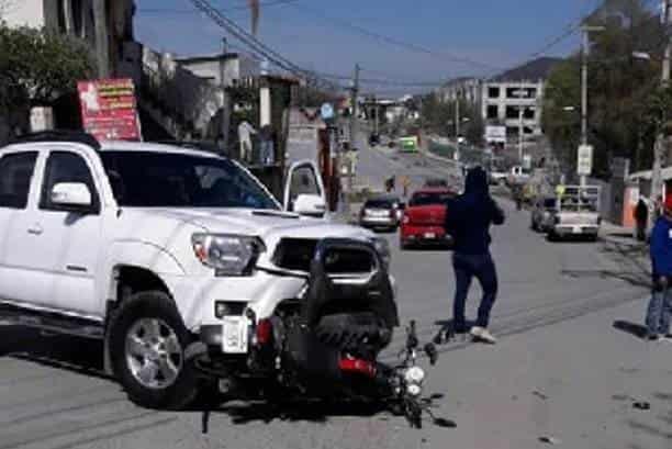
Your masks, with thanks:
[[[504,212],[490,197],[488,176],[481,167],[467,173],[464,193],[449,200],[446,214],[446,229],[453,238],[452,267],[456,291],[452,306],[453,332],[471,336],[481,341],[496,343],[488,330],[490,312],[497,294],[497,273],[490,254],[490,226],[504,223]],[[464,308],[473,278],[483,290],[475,326],[467,328]]]

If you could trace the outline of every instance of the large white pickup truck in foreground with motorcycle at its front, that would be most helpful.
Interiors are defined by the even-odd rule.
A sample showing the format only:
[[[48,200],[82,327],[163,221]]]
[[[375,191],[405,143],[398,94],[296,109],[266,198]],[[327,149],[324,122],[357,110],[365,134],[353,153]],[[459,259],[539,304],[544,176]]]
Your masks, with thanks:
[[[102,338],[131,400],[183,406],[199,389],[189,348],[245,353],[248,326],[305,290],[321,238],[389,260],[374,234],[303,216],[324,212],[314,166],[288,179],[280,204],[235,161],[193,149],[58,133],[0,148],[0,313]]]

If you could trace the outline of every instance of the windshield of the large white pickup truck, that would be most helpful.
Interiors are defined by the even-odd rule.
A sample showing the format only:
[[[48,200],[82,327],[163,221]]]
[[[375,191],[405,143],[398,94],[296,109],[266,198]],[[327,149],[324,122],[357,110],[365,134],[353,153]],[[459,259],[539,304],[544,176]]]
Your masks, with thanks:
[[[248,207],[278,203],[229,160],[184,154],[103,151],[114,198],[130,207]]]

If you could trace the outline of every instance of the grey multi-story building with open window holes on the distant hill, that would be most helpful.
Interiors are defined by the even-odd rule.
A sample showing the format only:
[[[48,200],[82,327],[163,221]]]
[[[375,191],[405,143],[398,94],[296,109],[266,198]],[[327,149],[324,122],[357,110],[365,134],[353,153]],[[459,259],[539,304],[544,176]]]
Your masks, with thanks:
[[[484,82],[481,111],[486,125],[506,126],[506,135],[541,135],[544,81],[502,80]],[[522,116],[520,116],[522,113]]]

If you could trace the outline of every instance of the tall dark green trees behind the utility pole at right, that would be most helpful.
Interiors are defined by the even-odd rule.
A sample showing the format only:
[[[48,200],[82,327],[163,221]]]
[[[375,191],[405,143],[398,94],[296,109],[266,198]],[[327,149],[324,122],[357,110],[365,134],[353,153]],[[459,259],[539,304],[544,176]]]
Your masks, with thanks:
[[[606,0],[586,20],[605,27],[591,34],[589,58],[589,141],[595,147],[594,173],[600,177],[608,178],[612,157],[650,167],[652,136],[645,115],[660,83],[660,64],[641,61],[634,54],[662,54],[668,36],[646,3]],[[574,55],[549,76],[542,124],[557,156],[569,167],[575,165],[580,142],[580,99],[581,57]]]

